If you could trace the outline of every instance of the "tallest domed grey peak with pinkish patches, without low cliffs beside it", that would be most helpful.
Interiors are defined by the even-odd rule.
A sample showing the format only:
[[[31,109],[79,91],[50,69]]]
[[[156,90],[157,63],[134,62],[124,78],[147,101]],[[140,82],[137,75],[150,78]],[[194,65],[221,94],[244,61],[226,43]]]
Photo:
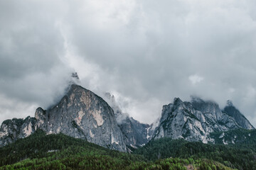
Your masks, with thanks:
[[[72,84],[60,102],[46,111],[48,133],[63,132],[103,147],[126,151],[114,111],[100,96]],[[44,126],[43,126],[44,127]]]

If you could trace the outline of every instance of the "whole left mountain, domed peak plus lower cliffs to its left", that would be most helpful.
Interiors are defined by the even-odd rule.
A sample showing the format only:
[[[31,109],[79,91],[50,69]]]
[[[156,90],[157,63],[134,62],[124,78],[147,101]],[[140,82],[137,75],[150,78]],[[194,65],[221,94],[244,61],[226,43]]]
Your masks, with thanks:
[[[73,84],[65,96],[47,111],[36,109],[35,118],[6,120],[1,125],[1,146],[31,135],[36,129],[63,133],[110,149],[126,152],[114,111],[100,96]]]

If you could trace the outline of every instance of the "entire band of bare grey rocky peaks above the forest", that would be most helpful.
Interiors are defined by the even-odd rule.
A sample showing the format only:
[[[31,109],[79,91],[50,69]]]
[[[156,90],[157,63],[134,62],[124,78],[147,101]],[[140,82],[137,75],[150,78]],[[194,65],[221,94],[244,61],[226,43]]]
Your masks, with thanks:
[[[78,79],[77,76],[74,78]],[[216,140],[213,137],[216,132],[254,129],[230,101],[221,111],[213,101],[193,97],[191,102],[183,102],[174,98],[174,103],[163,106],[161,119],[148,125],[123,113],[114,96],[107,94],[106,97],[113,109],[92,91],[73,84],[58,104],[47,111],[36,109],[35,118],[5,120],[0,128],[0,147],[28,137],[37,128],[47,134],[62,132],[122,152],[160,137],[218,143],[221,137]],[[223,143],[226,141],[224,139]],[[232,138],[231,142],[237,140]]]

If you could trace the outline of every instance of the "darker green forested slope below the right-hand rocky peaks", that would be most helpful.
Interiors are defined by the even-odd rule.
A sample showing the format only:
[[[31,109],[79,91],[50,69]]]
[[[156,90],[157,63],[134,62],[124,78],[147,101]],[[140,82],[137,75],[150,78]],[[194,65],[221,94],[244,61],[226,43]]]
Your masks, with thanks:
[[[228,132],[228,134],[232,132]],[[234,169],[249,170],[256,169],[256,143],[252,141],[250,143],[240,142],[236,145],[213,145],[186,140],[171,140],[171,138],[164,137],[159,140],[151,140],[144,147],[134,151],[134,154],[142,154],[151,161],[169,157],[210,159]]]

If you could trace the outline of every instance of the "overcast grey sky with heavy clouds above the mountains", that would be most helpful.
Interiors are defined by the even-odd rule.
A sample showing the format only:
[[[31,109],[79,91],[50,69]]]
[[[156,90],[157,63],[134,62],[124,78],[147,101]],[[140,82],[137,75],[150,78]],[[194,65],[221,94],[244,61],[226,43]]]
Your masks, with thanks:
[[[256,127],[255,0],[0,0],[0,122],[81,85],[143,123],[174,97],[231,99]]]

